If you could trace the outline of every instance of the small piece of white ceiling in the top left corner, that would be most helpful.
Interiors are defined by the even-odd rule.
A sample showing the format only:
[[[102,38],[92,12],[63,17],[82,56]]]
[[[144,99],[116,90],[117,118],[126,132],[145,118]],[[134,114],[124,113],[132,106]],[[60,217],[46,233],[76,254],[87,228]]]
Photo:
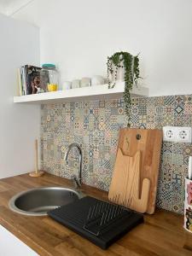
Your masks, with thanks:
[[[13,15],[17,10],[26,6],[33,0],[0,0],[0,13]]]

